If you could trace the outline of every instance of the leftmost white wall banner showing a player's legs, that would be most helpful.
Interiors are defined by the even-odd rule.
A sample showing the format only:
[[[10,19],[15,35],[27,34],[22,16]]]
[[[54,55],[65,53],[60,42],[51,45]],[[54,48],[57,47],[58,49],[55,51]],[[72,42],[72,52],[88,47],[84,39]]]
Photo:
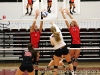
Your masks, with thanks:
[[[39,0],[23,0],[23,15],[35,15],[35,10],[39,10]]]

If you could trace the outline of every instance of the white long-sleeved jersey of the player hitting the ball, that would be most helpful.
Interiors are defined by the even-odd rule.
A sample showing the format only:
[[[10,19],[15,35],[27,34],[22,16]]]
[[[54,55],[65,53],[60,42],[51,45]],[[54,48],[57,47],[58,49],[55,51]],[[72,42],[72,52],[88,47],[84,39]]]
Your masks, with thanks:
[[[62,46],[65,46],[66,43],[63,40],[63,36],[62,36],[60,29],[55,24],[53,24],[53,26],[56,28],[56,31],[59,32],[61,40],[59,42],[56,42],[55,38],[53,37],[53,34],[50,36],[50,40],[52,40],[54,48],[59,49]]]

